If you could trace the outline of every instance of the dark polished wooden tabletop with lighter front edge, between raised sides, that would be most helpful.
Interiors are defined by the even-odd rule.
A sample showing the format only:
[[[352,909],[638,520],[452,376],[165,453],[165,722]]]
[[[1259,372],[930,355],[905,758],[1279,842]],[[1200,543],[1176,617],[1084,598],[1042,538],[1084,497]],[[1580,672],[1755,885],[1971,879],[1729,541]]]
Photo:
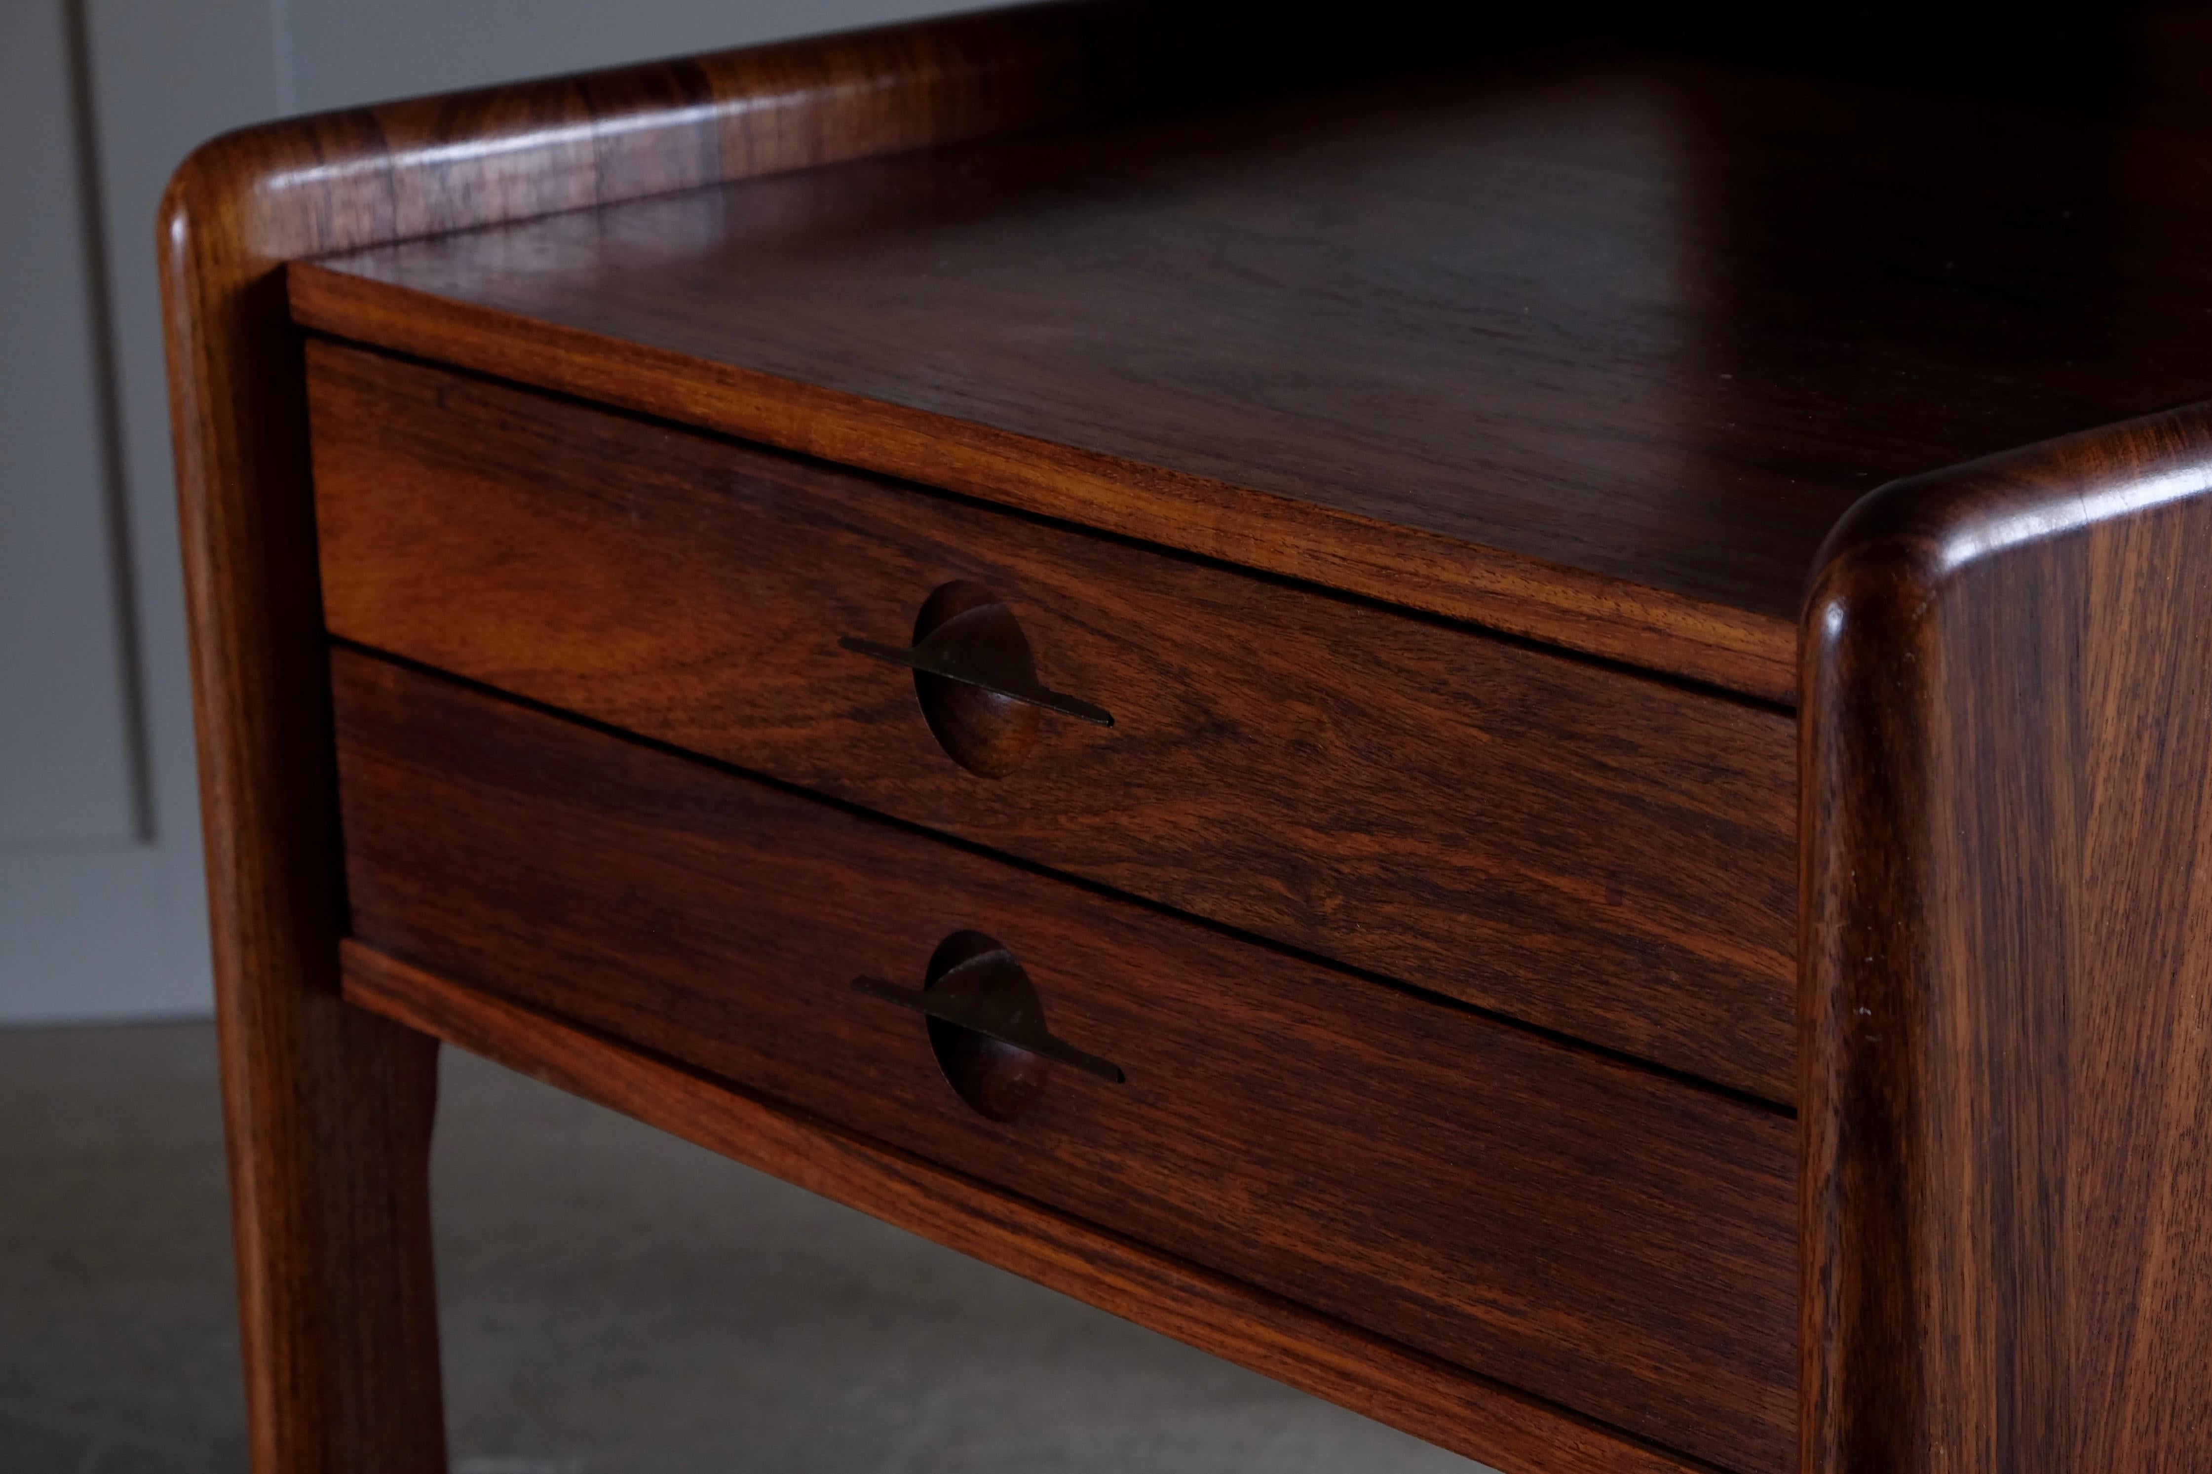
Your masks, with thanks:
[[[2212,144],[1548,51],[292,272],[307,325],[1794,699],[1876,485],[2212,394]]]

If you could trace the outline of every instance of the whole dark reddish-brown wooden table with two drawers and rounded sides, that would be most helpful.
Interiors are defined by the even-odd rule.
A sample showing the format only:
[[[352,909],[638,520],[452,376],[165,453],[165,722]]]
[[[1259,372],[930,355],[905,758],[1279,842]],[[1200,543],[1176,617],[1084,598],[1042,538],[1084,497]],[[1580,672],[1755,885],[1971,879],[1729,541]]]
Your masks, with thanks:
[[[442,1467],[436,1040],[1509,1472],[2212,1467],[2212,144],[1394,44],[184,166],[257,1470]]]

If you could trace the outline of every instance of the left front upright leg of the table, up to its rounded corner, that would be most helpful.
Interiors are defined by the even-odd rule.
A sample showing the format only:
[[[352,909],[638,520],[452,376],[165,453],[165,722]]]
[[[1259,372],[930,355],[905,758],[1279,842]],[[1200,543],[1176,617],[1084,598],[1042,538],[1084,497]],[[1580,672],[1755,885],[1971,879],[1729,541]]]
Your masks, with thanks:
[[[438,1056],[338,998],[307,407],[276,270],[316,237],[208,157],[164,204],[161,297],[252,1467],[431,1474]]]

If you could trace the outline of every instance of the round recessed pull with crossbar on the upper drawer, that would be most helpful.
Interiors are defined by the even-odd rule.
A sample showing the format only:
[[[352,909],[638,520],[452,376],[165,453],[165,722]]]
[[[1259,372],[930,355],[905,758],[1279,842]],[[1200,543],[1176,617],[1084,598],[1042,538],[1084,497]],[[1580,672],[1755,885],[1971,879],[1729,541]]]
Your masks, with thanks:
[[[845,635],[858,655],[914,671],[914,695],[938,746],[982,777],[1006,777],[1037,741],[1037,713],[1113,726],[1104,706],[1046,691],[1020,620],[982,584],[951,582],[922,602],[914,644],[876,644]]]

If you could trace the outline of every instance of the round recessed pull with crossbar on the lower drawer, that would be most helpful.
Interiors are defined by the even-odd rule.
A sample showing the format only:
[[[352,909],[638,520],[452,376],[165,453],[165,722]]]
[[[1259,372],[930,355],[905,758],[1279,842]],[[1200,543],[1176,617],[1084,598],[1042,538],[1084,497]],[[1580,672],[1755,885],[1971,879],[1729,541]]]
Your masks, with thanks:
[[[920,987],[854,978],[854,989],[887,998],[929,1018],[929,1049],[960,1100],[991,1120],[1013,1120],[1053,1065],[1108,1084],[1126,1076],[1044,1027],[1044,1000],[1011,952],[982,932],[953,932],[938,943]]]

